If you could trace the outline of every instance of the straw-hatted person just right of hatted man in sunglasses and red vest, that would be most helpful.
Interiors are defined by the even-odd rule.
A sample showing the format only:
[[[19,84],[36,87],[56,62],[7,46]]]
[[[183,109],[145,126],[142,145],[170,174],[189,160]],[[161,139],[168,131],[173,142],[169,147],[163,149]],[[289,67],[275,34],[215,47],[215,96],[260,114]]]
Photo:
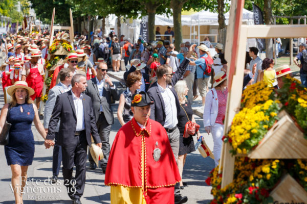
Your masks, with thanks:
[[[76,54],[79,58],[82,58],[82,60],[78,62],[78,68],[86,73],[86,80],[92,79],[92,76],[96,77],[96,70],[94,69],[94,66],[91,61],[88,60],[88,57],[86,53],[84,53],[84,50],[77,49]]]

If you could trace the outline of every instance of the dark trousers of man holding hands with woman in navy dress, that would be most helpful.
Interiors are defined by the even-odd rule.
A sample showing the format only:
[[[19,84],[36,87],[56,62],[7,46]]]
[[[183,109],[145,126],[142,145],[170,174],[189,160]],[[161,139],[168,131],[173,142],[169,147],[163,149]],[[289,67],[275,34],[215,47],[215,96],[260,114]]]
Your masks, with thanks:
[[[63,179],[71,199],[80,198],[83,195],[85,186],[86,167],[86,135],[84,133],[75,136],[70,146],[62,146]],[[73,180],[73,167],[76,166],[76,175]]]

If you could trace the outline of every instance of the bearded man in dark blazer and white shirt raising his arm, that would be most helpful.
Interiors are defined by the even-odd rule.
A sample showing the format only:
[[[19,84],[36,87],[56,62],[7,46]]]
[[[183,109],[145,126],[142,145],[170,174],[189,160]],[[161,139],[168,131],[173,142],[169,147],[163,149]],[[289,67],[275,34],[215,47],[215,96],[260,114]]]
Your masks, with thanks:
[[[189,54],[191,52],[193,52],[192,49],[189,50]],[[176,161],[179,153],[180,133],[177,127],[177,114],[180,112],[180,104],[174,85],[182,77],[189,62],[188,59],[184,59],[175,73],[172,72],[172,67],[160,65],[156,70],[158,81],[153,83],[147,91],[154,102],[150,105],[150,119],[160,122],[166,130]],[[185,203],[187,200],[186,196],[180,195],[180,185],[177,183],[175,185],[175,203]]]

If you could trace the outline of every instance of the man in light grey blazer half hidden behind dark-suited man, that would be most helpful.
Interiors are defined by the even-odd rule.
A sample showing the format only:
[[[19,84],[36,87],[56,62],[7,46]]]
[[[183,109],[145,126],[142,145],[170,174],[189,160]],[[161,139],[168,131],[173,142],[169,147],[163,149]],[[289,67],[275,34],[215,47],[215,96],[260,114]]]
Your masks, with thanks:
[[[45,127],[46,133],[48,133],[49,120],[51,118],[51,113],[55,105],[56,97],[59,94],[62,94],[64,92],[71,90],[72,88],[71,82],[73,78],[73,72],[70,69],[61,69],[58,76],[59,76],[60,82],[56,86],[54,86],[52,89],[49,90],[48,100],[45,106],[45,113],[43,115],[43,127]],[[52,155],[52,179],[51,179],[51,183],[53,184],[55,184],[57,181],[58,174],[60,171],[60,166],[62,163],[61,146],[57,143],[59,126],[60,126],[60,123],[58,122],[58,125],[54,133],[54,136],[55,136],[54,143],[55,144],[54,144],[53,155]]]

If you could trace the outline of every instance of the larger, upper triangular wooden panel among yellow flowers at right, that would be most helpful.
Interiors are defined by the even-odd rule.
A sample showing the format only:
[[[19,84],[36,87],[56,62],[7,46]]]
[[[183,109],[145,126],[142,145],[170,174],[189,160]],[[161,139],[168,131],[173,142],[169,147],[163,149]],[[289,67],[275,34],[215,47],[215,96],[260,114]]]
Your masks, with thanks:
[[[271,128],[248,155],[251,159],[307,159],[307,140],[289,114]]]

